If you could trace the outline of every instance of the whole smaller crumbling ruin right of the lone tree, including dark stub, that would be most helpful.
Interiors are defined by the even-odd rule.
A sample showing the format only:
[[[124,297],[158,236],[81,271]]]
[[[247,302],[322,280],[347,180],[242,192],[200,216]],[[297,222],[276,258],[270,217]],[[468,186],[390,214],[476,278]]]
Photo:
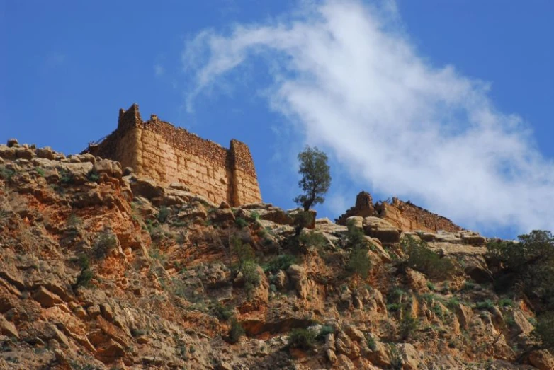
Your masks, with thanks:
[[[392,198],[392,203],[378,202],[373,204],[368,192],[360,192],[356,197],[356,205],[337,219],[338,224],[345,225],[350,216],[379,216],[402,231],[429,231],[436,233],[439,230],[456,232],[463,230],[446,217],[439,216],[418,207],[412,202],[402,202]]]

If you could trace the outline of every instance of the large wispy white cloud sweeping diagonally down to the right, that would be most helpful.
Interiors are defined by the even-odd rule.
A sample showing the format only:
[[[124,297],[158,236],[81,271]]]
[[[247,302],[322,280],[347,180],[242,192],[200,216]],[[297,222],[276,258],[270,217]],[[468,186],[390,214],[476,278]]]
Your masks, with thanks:
[[[525,123],[494,108],[487,83],[420,56],[394,1],[383,4],[329,1],[288,21],[199,33],[183,52],[189,108],[261,58],[271,108],[367,188],[469,227],[554,229],[554,163]]]

